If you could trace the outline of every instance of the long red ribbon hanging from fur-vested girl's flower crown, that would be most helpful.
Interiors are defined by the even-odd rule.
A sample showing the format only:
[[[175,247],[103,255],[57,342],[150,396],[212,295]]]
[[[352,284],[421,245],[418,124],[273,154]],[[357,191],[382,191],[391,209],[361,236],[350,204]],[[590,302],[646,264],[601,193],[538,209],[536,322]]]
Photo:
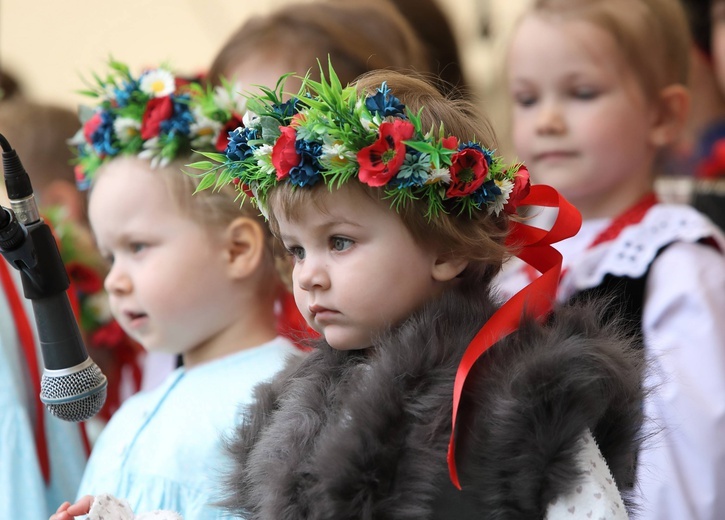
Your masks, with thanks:
[[[458,480],[455,457],[456,419],[466,378],[476,361],[492,345],[519,327],[524,313],[541,321],[551,312],[562,263],[561,253],[551,247],[551,244],[576,235],[581,227],[579,211],[551,186],[532,186],[529,194],[521,201],[521,205],[558,207],[559,213],[549,231],[512,222],[507,245],[520,248],[516,256],[542,274],[513,295],[488,319],[466,347],[458,365],[453,385],[453,416],[451,438],[448,443],[448,472],[451,482],[458,489],[461,489],[461,484]]]

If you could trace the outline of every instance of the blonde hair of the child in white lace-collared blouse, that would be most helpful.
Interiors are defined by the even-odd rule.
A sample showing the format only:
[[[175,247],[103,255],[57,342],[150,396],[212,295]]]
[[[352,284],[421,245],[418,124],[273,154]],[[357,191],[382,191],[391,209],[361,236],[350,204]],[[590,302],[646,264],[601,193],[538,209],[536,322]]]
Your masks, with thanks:
[[[526,14],[582,20],[609,33],[651,99],[687,84],[690,32],[679,0],[534,0]]]

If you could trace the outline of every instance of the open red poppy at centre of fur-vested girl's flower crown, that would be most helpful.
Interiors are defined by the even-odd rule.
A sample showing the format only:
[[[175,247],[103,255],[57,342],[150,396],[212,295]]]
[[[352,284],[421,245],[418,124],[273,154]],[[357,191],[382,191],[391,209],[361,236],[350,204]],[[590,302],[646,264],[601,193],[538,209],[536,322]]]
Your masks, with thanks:
[[[396,119],[380,125],[380,137],[357,153],[360,182],[368,186],[385,186],[405,160],[403,141],[413,137],[415,128],[410,121]]]

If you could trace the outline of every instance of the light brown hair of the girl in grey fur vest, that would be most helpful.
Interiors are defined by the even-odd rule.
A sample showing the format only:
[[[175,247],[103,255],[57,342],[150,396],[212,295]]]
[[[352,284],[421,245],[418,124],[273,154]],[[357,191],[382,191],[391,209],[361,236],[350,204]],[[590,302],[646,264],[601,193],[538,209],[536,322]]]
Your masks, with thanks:
[[[449,135],[460,142],[476,140],[489,149],[496,148],[493,129],[479,113],[476,106],[464,99],[451,99],[432,84],[416,77],[394,71],[374,71],[362,76],[356,83],[360,92],[374,93],[385,81],[393,95],[417,113],[424,107],[421,121],[423,128],[438,128],[441,123]],[[355,180],[349,181],[382,204],[382,190],[370,188]],[[269,193],[270,227],[279,231],[274,211],[287,218],[295,218],[306,205],[315,204],[316,193],[328,186],[318,184],[312,189],[299,189],[289,183],[281,183]],[[334,188],[333,188],[334,189]],[[507,256],[504,238],[508,229],[508,217],[489,214],[485,209],[468,214],[445,213],[435,218],[426,217],[425,201],[413,201],[400,208],[398,214],[413,238],[421,245],[434,247],[440,254],[465,258],[469,266],[463,273],[467,281],[486,284],[499,271]]]

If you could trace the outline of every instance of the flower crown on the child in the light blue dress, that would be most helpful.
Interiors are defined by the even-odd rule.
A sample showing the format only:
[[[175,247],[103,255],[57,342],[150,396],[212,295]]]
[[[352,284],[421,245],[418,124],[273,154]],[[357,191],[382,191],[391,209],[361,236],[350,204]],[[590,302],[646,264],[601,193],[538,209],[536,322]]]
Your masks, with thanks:
[[[81,91],[98,105],[80,107],[81,129],[70,140],[80,189],[87,189],[96,170],[119,155],[137,155],[156,168],[193,150],[223,151],[228,131],[241,123],[244,99],[228,83],[204,89],[166,67],[138,77],[115,60],[109,68],[105,78],[94,74],[95,84]],[[204,101],[192,104],[195,98]]]

